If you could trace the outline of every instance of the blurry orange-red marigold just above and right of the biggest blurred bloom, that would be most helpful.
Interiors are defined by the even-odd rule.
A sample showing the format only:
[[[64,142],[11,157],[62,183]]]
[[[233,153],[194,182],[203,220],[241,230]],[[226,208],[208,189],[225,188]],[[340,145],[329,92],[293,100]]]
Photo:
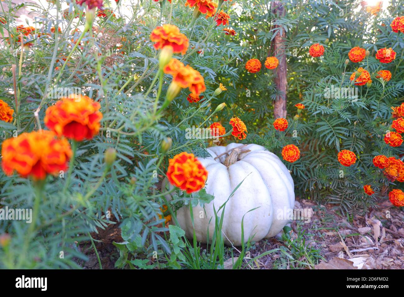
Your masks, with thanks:
[[[100,128],[101,105],[84,95],[70,95],[48,107],[45,125],[56,132],[76,141],[92,139]]]

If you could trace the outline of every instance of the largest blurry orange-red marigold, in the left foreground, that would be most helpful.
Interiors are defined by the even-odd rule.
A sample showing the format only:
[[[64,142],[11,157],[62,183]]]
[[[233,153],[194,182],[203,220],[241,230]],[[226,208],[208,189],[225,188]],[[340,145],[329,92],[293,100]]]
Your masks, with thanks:
[[[72,150],[67,139],[58,139],[53,131],[42,130],[6,139],[1,154],[6,175],[17,171],[22,177],[40,180],[47,174],[65,171]]]

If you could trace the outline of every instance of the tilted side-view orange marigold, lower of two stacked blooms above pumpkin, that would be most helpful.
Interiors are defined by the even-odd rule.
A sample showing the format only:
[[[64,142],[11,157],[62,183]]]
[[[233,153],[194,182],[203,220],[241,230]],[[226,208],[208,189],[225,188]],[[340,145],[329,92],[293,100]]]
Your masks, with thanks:
[[[206,90],[202,75],[191,66],[184,66],[184,64],[177,59],[171,59],[164,67],[163,71],[166,74],[171,74],[173,76],[173,82],[178,84],[178,86],[181,88],[188,87],[189,91],[197,96]]]

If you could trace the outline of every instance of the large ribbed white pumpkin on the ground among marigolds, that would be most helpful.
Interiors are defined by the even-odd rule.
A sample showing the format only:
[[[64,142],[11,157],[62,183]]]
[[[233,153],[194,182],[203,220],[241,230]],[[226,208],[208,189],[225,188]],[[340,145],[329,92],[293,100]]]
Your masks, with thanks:
[[[229,150],[232,151],[223,154]],[[211,157],[198,160],[208,171],[206,192],[215,196],[215,199],[205,204],[206,214],[200,205],[193,208],[197,240],[206,243],[209,229],[209,242],[212,242],[215,229],[213,204],[217,211],[244,178],[225,207],[222,227],[225,243],[235,246],[241,244],[241,220],[244,215],[244,242],[251,236],[252,240],[258,241],[278,234],[288,223],[287,217],[283,216],[285,210],[293,209],[295,204],[293,179],[278,156],[261,145],[245,146],[241,143],[209,147],[208,152]],[[162,186],[165,188],[167,184],[165,180]],[[169,196],[167,198],[170,199]],[[256,207],[259,208],[247,213]],[[279,212],[282,213],[281,218]],[[187,238],[193,238],[189,206],[183,206],[177,211],[177,220]]]

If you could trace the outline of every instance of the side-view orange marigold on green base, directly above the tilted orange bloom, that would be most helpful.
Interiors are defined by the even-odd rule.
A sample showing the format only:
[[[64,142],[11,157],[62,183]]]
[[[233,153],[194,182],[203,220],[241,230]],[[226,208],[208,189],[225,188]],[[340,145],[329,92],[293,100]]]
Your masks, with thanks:
[[[174,53],[182,53],[183,55],[189,46],[187,36],[180,33],[177,26],[170,24],[156,27],[150,34],[150,40],[156,42],[154,44],[156,49],[171,46]]]

